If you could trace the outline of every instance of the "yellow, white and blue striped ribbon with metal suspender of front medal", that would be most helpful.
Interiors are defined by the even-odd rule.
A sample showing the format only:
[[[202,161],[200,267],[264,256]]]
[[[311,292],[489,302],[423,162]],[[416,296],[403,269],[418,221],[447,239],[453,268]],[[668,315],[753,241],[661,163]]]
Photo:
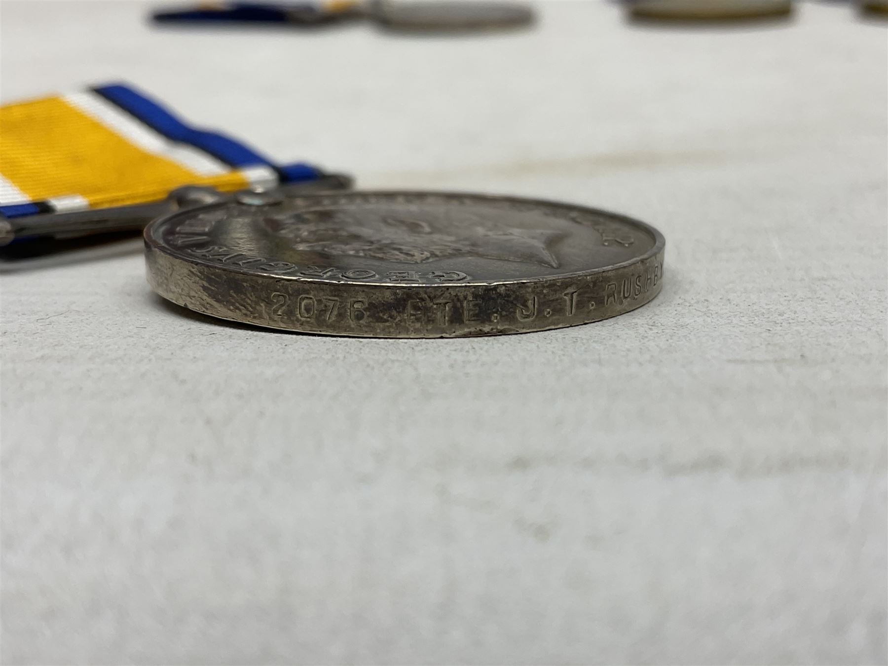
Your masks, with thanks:
[[[0,155],[0,246],[135,232],[238,192],[352,185],[311,164],[274,164],[121,83],[0,107]]]

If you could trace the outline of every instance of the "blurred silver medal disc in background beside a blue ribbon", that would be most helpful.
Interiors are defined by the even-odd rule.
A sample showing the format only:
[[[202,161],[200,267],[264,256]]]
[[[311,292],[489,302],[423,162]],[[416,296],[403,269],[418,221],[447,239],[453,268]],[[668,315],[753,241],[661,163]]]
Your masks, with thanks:
[[[486,30],[515,28],[532,23],[534,13],[525,5],[465,0],[387,2],[375,5],[375,18],[397,30]]]

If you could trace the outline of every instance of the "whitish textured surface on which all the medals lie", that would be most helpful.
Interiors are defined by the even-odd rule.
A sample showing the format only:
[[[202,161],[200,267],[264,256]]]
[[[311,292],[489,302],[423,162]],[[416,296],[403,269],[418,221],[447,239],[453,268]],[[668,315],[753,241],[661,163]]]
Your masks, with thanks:
[[[123,78],[362,186],[620,210],[667,281],[610,321],[409,341],[187,316],[138,249],[3,275],[4,662],[885,662],[884,22],[149,6],[3,2],[3,99]]]

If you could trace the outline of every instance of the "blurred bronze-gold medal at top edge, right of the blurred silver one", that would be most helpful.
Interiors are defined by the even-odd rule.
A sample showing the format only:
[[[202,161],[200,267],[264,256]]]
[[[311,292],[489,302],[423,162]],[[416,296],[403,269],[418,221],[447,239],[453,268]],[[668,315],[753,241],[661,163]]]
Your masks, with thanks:
[[[630,0],[632,15],[664,20],[740,20],[780,16],[791,0]]]

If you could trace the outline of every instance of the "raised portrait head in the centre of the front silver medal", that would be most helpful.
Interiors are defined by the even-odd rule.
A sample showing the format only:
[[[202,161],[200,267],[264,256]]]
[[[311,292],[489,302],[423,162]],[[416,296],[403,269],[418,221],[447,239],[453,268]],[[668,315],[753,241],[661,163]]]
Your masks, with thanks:
[[[565,234],[533,224],[527,213],[503,216],[471,206],[410,210],[377,205],[357,210],[318,206],[266,216],[259,226],[288,239],[294,250],[404,264],[482,257],[558,268],[551,244]]]

